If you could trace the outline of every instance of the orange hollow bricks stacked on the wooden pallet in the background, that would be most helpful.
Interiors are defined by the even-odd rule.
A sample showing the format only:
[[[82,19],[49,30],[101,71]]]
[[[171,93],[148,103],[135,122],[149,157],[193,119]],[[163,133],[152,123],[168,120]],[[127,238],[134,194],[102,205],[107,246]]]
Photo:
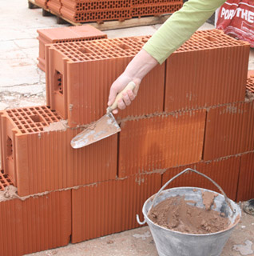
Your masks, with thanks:
[[[37,0],[42,1],[42,0]],[[71,22],[105,22],[173,14],[182,0],[49,0],[48,8]]]

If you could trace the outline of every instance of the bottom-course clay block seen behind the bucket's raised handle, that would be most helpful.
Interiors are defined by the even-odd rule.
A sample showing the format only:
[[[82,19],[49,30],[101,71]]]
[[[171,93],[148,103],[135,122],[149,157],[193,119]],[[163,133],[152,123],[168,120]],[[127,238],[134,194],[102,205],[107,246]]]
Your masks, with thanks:
[[[209,178],[212,178],[212,180],[224,190],[228,198],[234,201],[236,200],[240,157],[231,157],[209,162],[196,162],[188,166],[170,168],[162,175],[162,185],[186,168],[198,170]],[[220,190],[218,190],[208,179],[192,172],[176,178],[167,188],[169,189],[177,186],[195,186],[220,192]]]

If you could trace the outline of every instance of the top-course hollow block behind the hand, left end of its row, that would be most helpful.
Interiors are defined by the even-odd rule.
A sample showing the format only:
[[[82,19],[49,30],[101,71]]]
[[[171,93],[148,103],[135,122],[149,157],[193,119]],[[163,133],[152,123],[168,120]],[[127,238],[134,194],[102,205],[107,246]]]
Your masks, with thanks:
[[[141,50],[148,37],[65,42],[46,47],[47,105],[68,119],[87,124],[105,114],[109,88]],[[161,113],[165,65],[154,68],[141,82],[137,99],[118,118]]]

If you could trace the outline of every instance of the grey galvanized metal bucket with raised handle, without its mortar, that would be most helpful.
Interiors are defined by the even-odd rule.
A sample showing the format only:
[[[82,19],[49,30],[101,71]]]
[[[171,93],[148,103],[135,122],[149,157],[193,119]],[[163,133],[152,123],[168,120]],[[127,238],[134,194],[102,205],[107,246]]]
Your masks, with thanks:
[[[152,197],[146,200],[142,209],[145,220],[144,222],[141,222],[137,215],[137,222],[141,225],[144,225],[145,222],[148,223],[149,229],[153,235],[153,240],[157,247],[157,252],[160,256],[220,255],[224,245],[232,233],[232,230],[240,221],[240,207],[235,202],[228,199],[220,186],[218,186],[216,182],[212,181],[211,178],[208,179],[219,188],[222,194],[212,190],[205,190],[196,187],[176,187],[169,190],[164,190],[165,187],[173,181],[173,179],[179,177],[181,174],[184,174],[187,171],[192,171],[196,174],[204,176],[205,178],[208,178],[206,175],[201,174],[197,170],[192,170],[190,168],[183,170],[180,174],[177,174],[175,177],[171,178],[169,182],[166,182],[157,194],[154,194]],[[156,206],[159,202],[164,201],[166,198],[175,197],[177,195],[185,195],[185,200],[192,200],[196,202],[197,207],[204,208],[204,204],[202,202],[202,191],[209,191],[218,194],[214,199],[216,208],[212,208],[212,210],[220,211],[229,218],[231,224],[228,226],[227,230],[222,230],[220,232],[211,234],[185,234],[158,226],[147,216],[153,205]]]

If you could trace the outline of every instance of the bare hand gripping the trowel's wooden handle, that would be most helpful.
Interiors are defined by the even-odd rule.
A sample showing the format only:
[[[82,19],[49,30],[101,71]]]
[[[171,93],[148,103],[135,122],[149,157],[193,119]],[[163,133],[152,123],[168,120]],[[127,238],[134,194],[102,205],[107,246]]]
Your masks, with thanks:
[[[139,89],[139,85],[141,83],[140,79],[137,78],[129,78],[125,73],[121,74],[120,77],[117,78],[115,82],[113,82],[110,91],[109,91],[109,102],[108,106],[111,106],[115,101],[117,94],[119,94],[125,87],[129,84],[129,82],[133,81],[135,83],[134,90],[127,90],[124,94],[122,94],[122,98],[117,101],[117,108],[120,110],[124,110],[126,106],[129,106],[131,102],[136,98],[137,92]],[[117,114],[118,110],[115,109],[112,111],[113,114]]]

